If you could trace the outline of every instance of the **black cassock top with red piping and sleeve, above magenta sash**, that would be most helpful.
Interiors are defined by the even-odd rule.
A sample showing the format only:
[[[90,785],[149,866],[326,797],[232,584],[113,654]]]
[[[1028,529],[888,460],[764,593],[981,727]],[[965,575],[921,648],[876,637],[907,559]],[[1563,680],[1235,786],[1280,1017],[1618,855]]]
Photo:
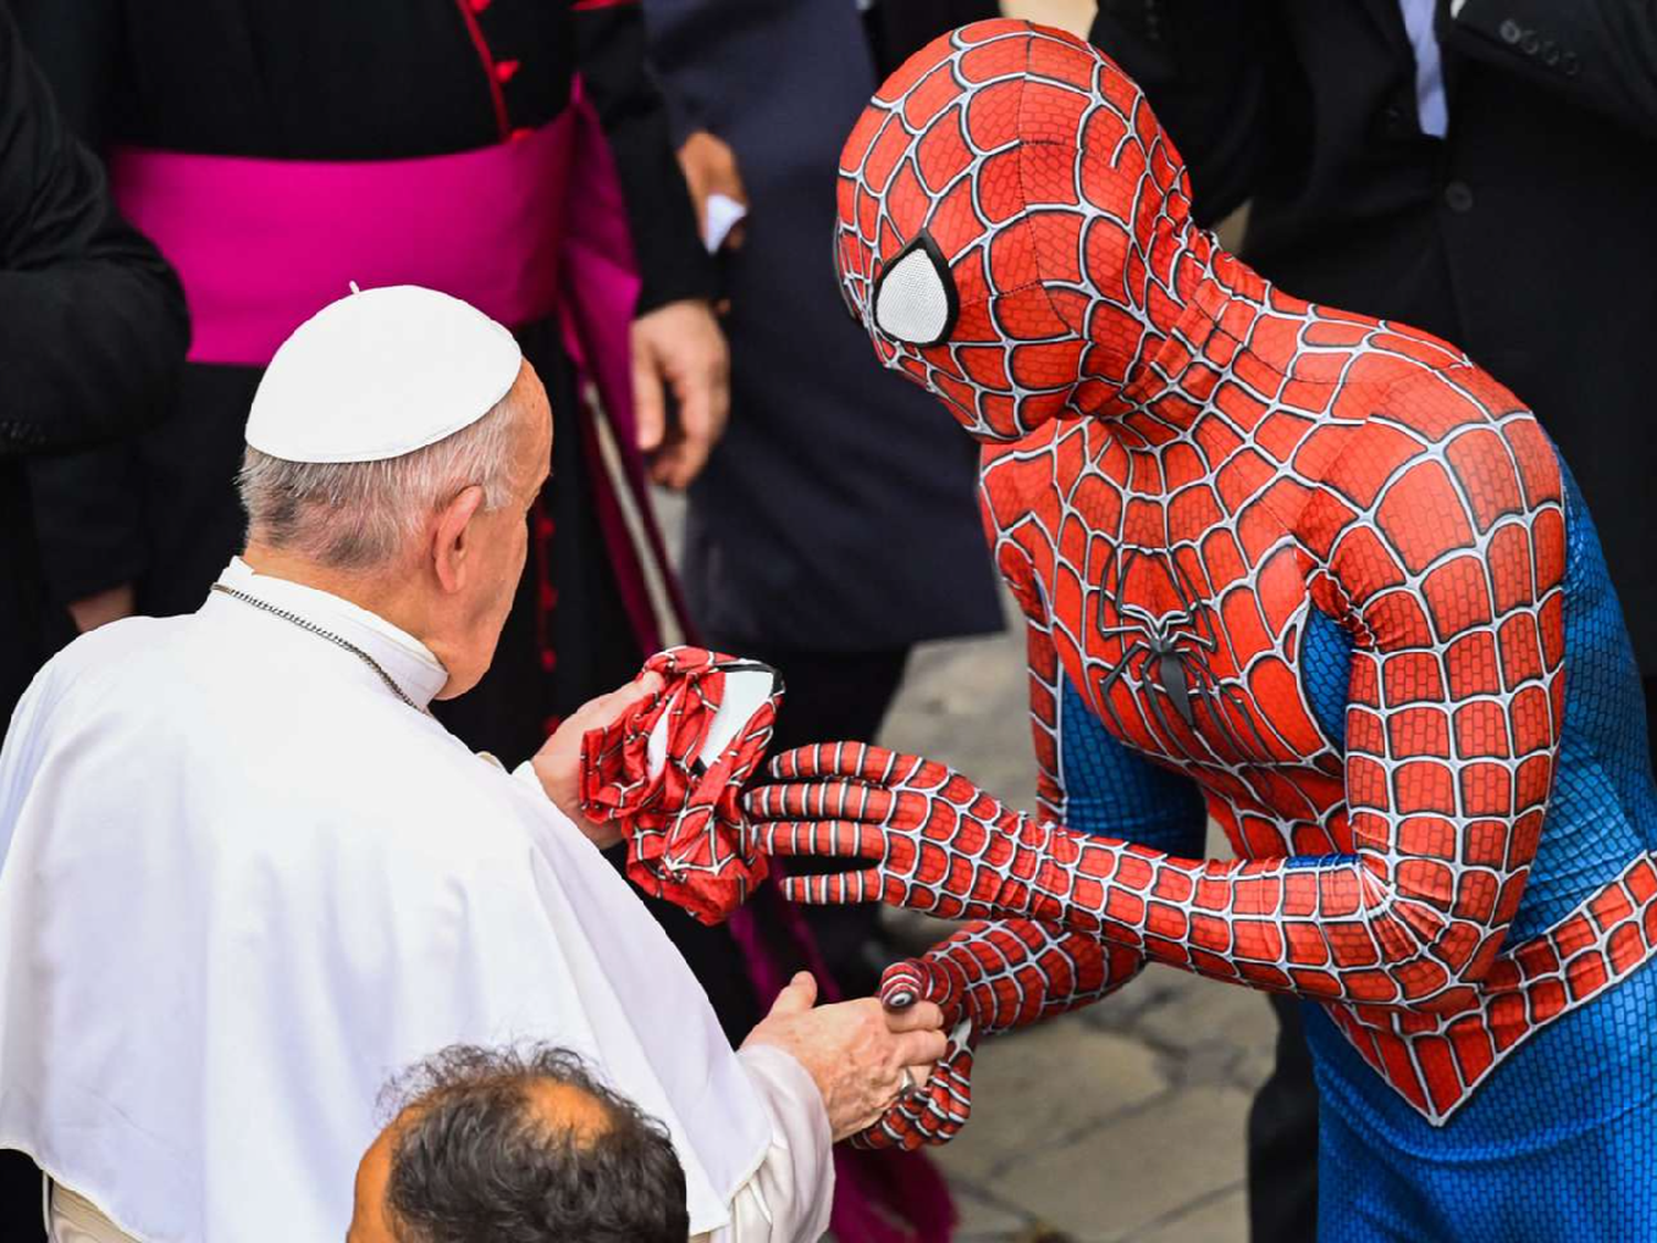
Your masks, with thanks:
[[[5,0],[93,148],[401,159],[489,146],[568,103],[578,71],[616,157],[650,310],[708,297],[635,3],[577,0]],[[505,103],[462,15],[472,12]]]

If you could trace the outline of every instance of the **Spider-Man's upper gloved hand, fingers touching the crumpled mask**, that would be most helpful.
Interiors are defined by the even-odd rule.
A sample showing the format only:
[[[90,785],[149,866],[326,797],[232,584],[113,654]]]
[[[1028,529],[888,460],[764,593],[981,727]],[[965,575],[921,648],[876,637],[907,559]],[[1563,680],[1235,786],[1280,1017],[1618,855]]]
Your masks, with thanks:
[[[784,784],[742,807],[766,854],[863,858],[863,872],[789,877],[794,902],[888,902],[946,920],[1021,918],[1032,890],[1064,887],[1077,839],[1014,812],[953,769],[862,742],[797,747]],[[1042,903],[1051,905],[1051,903]]]

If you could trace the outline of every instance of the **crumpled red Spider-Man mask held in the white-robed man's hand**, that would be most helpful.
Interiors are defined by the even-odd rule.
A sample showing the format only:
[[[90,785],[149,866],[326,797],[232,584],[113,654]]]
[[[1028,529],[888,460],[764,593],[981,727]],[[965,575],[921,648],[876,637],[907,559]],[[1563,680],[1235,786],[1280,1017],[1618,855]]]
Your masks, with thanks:
[[[661,691],[582,739],[582,812],[621,825],[635,885],[719,923],[766,878],[737,796],[771,744],[782,680],[703,648],[661,651],[643,673]]]

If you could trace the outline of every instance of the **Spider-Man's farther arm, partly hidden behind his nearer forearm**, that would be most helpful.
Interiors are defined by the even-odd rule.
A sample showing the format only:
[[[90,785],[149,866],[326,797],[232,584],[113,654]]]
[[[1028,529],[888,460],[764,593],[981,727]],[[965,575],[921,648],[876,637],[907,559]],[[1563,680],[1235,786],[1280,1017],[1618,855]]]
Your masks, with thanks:
[[[1200,850],[1206,817],[1196,787],[1105,733],[1059,668],[1039,595],[1024,575],[1007,573],[1007,580],[1027,615],[1031,729],[1044,815],[1079,832],[1132,837],[1176,854]],[[971,1112],[979,1039],[1092,1004],[1143,966],[1138,950],[1029,920],[969,923],[920,958],[893,965],[882,978],[882,999],[888,1006],[933,1001],[953,1034],[925,1092],[900,1099],[858,1142],[913,1149],[949,1140]]]

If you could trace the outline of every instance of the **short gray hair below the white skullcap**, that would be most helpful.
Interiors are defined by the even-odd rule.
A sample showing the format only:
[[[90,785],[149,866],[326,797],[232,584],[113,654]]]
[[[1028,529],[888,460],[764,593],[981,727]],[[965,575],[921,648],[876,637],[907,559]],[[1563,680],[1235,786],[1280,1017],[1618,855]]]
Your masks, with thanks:
[[[237,487],[247,535],[335,570],[376,570],[462,489],[484,509],[512,499],[517,386],[484,418],[401,457],[378,462],[290,462],[249,446]]]

